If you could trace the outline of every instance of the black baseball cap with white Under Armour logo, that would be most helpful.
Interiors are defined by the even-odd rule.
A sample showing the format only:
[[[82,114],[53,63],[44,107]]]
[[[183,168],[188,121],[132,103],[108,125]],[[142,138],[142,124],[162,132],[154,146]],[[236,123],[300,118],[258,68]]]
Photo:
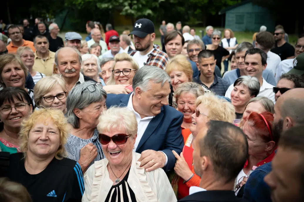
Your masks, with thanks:
[[[136,35],[140,38],[144,38],[147,34],[154,33],[154,24],[147,18],[141,18],[134,24],[133,31],[129,34]]]

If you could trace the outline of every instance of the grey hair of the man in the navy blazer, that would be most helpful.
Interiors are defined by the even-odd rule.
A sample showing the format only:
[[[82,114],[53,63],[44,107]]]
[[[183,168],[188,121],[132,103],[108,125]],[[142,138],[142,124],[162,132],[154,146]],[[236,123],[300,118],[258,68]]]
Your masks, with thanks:
[[[133,77],[133,89],[135,90],[136,87],[139,87],[142,91],[147,91],[150,89],[150,81],[155,84],[161,82],[162,87],[166,82],[171,84],[169,75],[163,69],[156,66],[143,66],[136,71]]]

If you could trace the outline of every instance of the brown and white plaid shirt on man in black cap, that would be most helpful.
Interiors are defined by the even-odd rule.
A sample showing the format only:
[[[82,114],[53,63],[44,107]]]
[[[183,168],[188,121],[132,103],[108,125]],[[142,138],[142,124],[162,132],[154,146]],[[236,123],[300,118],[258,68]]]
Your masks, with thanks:
[[[153,47],[154,49],[148,55],[148,60],[146,63],[144,63],[144,65],[156,66],[165,70],[166,65],[169,61],[168,55],[165,52],[161,51],[159,45],[154,44]],[[133,56],[135,53],[136,50],[132,51],[130,55]]]

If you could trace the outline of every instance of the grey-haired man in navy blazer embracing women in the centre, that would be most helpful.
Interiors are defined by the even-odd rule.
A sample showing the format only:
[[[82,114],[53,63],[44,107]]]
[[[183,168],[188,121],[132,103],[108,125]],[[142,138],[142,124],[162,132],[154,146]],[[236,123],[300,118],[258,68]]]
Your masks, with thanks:
[[[161,68],[144,66],[134,75],[132,93],[107,95],[107,108],[118,105],[134,111],[138,130],[133,151],[141,153],[138,161],[146,171],[170,171],[176,161],[172,150],[180,154],[184,146],[183,114],[168,106],[170,82]]]

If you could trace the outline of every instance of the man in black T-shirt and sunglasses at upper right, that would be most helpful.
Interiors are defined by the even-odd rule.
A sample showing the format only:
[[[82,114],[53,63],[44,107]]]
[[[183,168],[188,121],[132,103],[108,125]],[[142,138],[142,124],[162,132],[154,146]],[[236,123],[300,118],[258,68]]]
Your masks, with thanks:
[[[285,41],[284,35],[284,29],[275,30],[275,48],[271,49],[271,52],[280,56],[281,61],[295,58],[295,48]]]

